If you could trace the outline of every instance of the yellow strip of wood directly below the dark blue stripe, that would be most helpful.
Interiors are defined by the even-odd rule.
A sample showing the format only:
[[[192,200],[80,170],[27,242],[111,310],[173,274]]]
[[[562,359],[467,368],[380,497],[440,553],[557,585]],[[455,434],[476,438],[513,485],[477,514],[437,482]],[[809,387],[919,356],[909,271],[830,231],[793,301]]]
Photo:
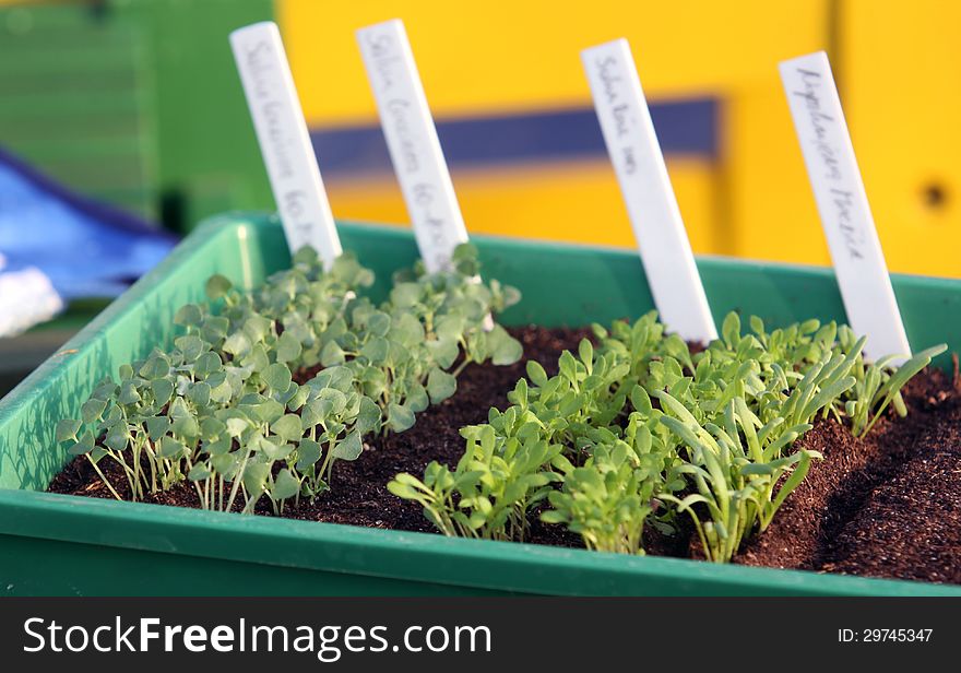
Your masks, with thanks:
[[[692,160],[668,164],[695,251],[733,251],[715,240],[712,167]],[[496,172],[459,169],[453,180],[471,233],[634,245],[607,161],[513,165]],[[391,175],[328,180],[327,187],[339,219],[407,222],[400,189]]]

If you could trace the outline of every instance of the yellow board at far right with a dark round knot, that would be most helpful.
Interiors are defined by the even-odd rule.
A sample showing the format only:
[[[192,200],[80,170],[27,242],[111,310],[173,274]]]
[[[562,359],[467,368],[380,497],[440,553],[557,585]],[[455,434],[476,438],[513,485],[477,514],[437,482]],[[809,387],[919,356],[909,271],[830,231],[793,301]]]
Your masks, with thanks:
[[[961,276],[961,3],[842,3],[844,111],[888,265]]]

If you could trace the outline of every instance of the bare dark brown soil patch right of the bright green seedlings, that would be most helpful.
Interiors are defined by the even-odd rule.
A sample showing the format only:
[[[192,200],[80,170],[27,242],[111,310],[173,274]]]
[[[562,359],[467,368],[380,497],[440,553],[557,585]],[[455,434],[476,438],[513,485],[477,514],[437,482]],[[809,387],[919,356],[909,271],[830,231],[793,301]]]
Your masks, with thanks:
[[[775,568],[961,583],[961,397],[926,370],[909,414],[856,439],[821,422],[800,444],[824,459],[737,562]]]

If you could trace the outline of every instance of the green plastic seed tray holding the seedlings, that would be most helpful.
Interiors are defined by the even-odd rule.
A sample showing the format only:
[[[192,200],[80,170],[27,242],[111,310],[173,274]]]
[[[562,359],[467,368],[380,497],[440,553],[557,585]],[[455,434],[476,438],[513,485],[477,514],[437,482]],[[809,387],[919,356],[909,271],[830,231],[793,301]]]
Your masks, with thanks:
[[[410,232],[342,224],[346,249],[375,270],[411,264]],[[485,272],[518,286],[507,324],[582,326],[652,306],[629,250],[477,237]],[[226,215],[192,233],[153,272],[0,400],[0,594],[961,594],[961,587],[630,557],[507,542],[210,512],[44,493],[68,462],[54,439],[94,385],[169,345],[171,318],[223,273],[252,287],[289,263],[278,223]],[[826,269],[698,260],[714,317],[732,309],[767,324],[842,319]],[[961,282],[897,276],[911,343],[961,350]],[[939,364],[949,361],[942,357]]]

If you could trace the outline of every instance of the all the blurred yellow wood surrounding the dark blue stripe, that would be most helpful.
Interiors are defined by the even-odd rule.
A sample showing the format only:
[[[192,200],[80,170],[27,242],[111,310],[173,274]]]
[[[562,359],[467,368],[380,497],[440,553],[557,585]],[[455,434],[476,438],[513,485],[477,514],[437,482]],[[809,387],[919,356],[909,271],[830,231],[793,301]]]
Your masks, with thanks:
[[[579,50],[627,37],[655,108],[716,101],[714,152],[665,147],[695,250],[818,264],[829,263],[827,246],[776,63],[826,49],[890,268],[961,275],[961,3],[280,0],[276,11],[318,129],[376,123],[354,38],[369,23],[404,20],[441,130],[451,119],[588,109]],[[633,245],[602,153],[451,165],[472,232]],[[406,220],[389,173],[324,175],[339,216]]]

